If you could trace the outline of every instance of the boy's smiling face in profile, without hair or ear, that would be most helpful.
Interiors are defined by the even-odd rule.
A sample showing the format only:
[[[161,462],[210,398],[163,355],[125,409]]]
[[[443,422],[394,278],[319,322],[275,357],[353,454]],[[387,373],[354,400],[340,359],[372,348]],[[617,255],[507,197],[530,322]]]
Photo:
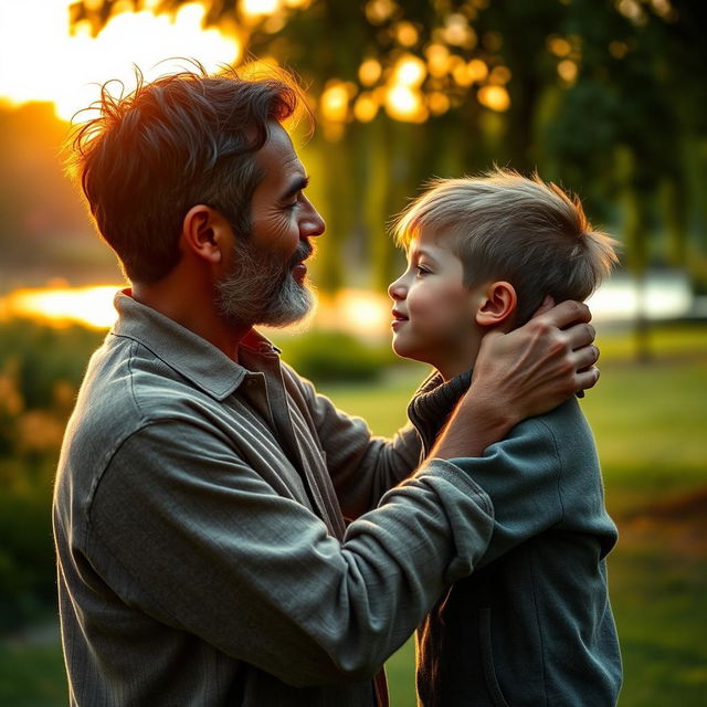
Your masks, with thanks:
[[[468,370],[482,329],[476,310],[484,286],[464,285],[462,261],[444,236],[421,233],[410,242],[408,267],[388,288],[393,299],[393,350],[434,366],[445,379]]]

